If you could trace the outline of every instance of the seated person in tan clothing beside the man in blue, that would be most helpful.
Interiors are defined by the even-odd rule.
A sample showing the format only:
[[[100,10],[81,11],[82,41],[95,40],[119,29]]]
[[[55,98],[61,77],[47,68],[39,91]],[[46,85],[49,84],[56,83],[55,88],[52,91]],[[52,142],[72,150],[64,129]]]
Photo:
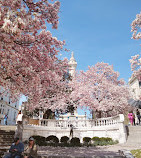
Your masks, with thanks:
[[[35,144],[34,138],[30,137],[29,138],[29,143],[25,147],[24,150],[24,158],[37,158],[37,145]]]

